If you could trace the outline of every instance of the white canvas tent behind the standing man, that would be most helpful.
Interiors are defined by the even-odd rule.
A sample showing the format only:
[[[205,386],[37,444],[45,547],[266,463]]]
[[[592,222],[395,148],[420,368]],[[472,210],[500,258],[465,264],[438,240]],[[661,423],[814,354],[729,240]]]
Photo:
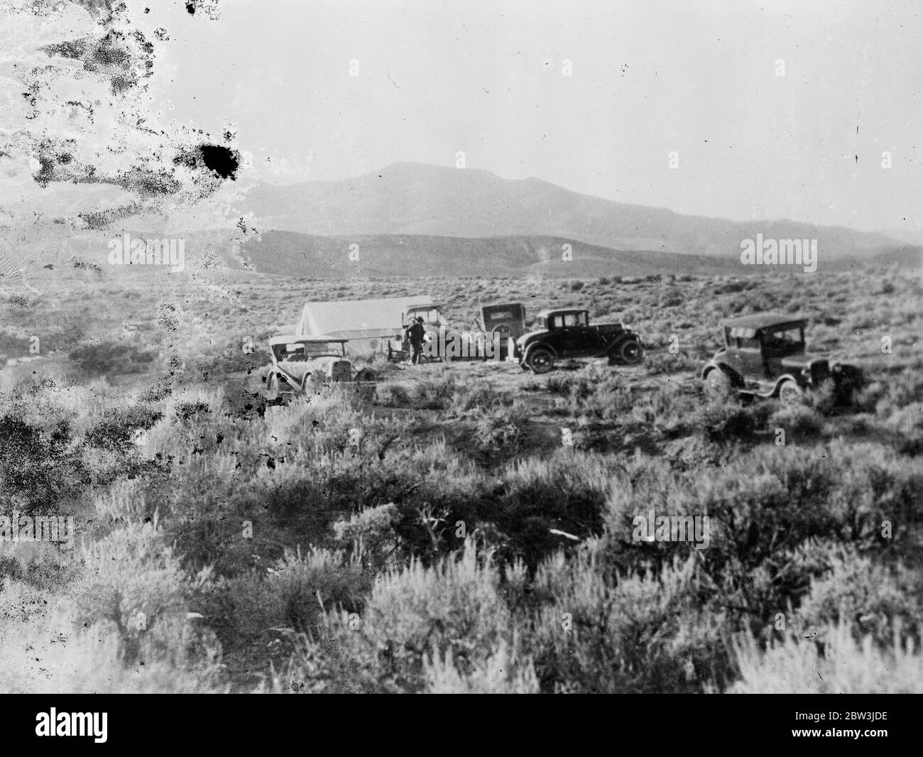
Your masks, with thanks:
[[[309,302],[295,332],[302,336],[342,339],[387,339],[403,334],[403,314],[410,307],[436,306],[426,294],[380,300]]]

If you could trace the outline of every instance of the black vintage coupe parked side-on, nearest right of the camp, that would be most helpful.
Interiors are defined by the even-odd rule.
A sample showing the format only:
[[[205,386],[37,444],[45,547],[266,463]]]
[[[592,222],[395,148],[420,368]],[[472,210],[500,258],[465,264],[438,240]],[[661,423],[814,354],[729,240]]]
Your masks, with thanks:
[[[577,308],[545,310],[535,329],[511,342],[507,359],[533,373],[547,373],[556,360],[607,357],[609,365],[634,366],[641,362],[641,338],[621,323],[590,325],[589,311]]]

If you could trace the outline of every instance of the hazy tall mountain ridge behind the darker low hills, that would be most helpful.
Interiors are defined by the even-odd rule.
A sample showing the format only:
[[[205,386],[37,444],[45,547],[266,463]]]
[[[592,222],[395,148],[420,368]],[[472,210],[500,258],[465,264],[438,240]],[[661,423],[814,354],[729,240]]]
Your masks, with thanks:
[[[886,234],[844,226],[687,216],[573,192],[534,176],[505,179],[485,169],[420,162],[396,162],[348,179],[258,183],[246,193],[243,207],[262,228],[335,237],[560,236],[617,250],[737,259],[741,241],[756,234],[818,239],[821,256],[830,259],[864,258],[902,244]]]

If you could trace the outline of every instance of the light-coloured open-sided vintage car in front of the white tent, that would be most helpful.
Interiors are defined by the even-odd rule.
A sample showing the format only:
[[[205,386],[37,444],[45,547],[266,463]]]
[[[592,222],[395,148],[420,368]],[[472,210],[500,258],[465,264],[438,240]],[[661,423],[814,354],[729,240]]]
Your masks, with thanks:
[[[375,372],[353,363],[346,354],[348,339],[281,334],[270,339],[272,363],[264,378],[270,397],[290,399],[324,383],[352,384],[374,393]]]

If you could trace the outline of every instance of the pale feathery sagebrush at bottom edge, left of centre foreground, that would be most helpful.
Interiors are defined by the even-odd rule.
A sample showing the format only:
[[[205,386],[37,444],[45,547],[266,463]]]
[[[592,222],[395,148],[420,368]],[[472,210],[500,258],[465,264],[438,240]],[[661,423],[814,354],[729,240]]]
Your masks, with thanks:
[[[412,559],[379,577],[360,617],[329,611],[326,629],[302,637],[263,690],[420,692],[484,685],[488,676],[499,676],[501,650],[516,646],[498,581],[489,556],[476,554],[470,540],[458,555],[431,567]],[[447,660],[454,671],[446,669]],[[529,685],[528,660],[520,664],[499,676],[508,686]]]

